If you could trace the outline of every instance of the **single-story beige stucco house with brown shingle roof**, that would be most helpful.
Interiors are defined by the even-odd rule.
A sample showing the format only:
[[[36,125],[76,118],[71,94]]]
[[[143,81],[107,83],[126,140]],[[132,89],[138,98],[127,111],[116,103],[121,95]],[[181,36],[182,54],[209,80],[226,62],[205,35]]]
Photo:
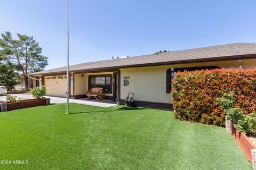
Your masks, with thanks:
[[[171,79],[175,72],[255,66],[256,44],[252,43],[76,64],[69,66],[70,98],[83,98],[88,89],[104,87],[108,99],[124,100],[129,92],[133,92],[138,106],[171,108]],[[39,84],[44,84],[47,95],[65,97],[65,74],[66,67],[60,67],[30,76],[39,77]]]

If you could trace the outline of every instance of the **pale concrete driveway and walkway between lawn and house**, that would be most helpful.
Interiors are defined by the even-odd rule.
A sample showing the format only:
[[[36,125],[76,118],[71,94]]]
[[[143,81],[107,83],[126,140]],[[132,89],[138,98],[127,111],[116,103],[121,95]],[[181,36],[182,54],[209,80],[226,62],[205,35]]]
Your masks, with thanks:
[[[21,97],[23,99],[31,99],[33,98],[30,94],[10,94],[13,96]],[[0,95],[0,101],[5,101],[6,95]],[[46,98],[51,98],[51,104],[61,104],[66,103],[66,98],[61,97],[51,97],[51,96],[45,96]],[[102,101],[90,101],[85,99],[69,99],[69,103],[77,103],[77,104],[83,104],[83,105],[90,105],[90,106],[98,106],[98,107],[115,107],[117,106],[115,103],[104,103],[104,100]]]

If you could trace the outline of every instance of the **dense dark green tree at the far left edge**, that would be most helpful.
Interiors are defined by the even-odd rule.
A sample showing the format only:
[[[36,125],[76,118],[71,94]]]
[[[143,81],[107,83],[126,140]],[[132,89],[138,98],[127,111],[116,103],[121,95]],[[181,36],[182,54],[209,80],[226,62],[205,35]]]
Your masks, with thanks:
[[[14,86],[19,83],[17,79],[14,79],[17,76],[14,66],[0,49],[0,86],[5,86],[9,91],[14,89]]]

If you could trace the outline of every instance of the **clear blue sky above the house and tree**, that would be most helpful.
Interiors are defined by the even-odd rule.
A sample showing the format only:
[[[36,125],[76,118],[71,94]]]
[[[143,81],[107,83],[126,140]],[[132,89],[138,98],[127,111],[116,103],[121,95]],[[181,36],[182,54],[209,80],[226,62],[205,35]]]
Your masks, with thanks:
[[[256,1],[69,0],[70,64],[229,43],[256,43]],[[34,36],[66,65],[66,0],[1,1],[0,32]]]

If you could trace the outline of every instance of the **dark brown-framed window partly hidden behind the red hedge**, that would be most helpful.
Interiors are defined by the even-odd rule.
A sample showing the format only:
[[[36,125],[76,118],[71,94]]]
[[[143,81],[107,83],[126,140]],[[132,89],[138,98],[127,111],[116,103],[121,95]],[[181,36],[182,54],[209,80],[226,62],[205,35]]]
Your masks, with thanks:
[[[195,71],[195,70],[212,70],[212,69],[219,69],[218,66],[204,66],[204,67],[187,67],[187,68],[174,68],[168,69],[166,72],[166,94],[170,94],[172,91],[172,79],[175,76],[175,72],[182,72],[182,71]]]

